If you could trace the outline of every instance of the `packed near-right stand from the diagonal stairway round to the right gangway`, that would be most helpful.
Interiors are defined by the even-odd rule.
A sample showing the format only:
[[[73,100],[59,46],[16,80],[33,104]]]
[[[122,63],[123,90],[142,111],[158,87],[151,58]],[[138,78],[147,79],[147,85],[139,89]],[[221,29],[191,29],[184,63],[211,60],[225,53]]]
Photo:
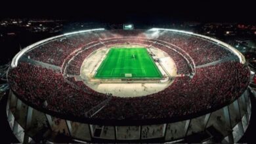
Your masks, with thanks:
[[[196,69],[177,77],[165,90],[139,98],[114,97],[95,118],[143,119],[177,117],[223,105],[241,96],[249,84],[249,69],[237,62]]]

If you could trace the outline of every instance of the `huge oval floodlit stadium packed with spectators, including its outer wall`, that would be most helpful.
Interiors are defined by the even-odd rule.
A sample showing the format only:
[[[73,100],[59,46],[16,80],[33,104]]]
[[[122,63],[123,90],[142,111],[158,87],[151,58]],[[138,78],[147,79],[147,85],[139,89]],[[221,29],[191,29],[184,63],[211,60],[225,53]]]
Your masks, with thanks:
[[[7,73],[21,143],[236,143],[251,71],[217,39],[177,29],[89,29],[23,48]]]

